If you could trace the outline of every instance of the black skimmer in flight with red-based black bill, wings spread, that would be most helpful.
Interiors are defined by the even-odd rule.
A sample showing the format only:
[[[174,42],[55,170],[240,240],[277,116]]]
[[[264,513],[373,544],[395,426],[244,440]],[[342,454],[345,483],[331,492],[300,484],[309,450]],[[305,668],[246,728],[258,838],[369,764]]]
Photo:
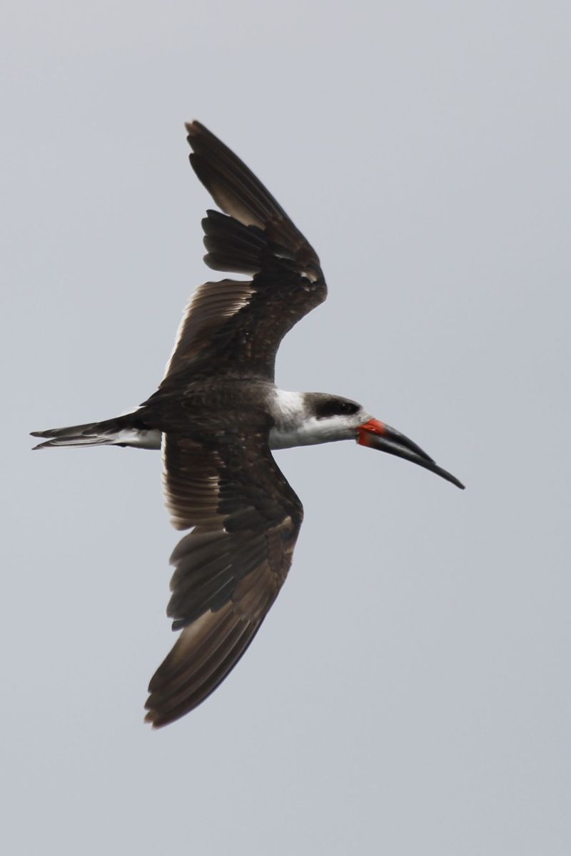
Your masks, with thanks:
[[[274,383],[283,336],[327,294],[317,253],[271,193],[199,122],[190,163],[224,213],[207,211],[205,262],[249,278],[193,294],[158,391],[116,419],[34,431],[36,449],[162,449],[175,528],[167,614],[181,634],[152,677],[146,720],[193,710],[252,642],[288,574],[303,508],[271,449],[356,440],[463,485],[399,431],[338,395]]]

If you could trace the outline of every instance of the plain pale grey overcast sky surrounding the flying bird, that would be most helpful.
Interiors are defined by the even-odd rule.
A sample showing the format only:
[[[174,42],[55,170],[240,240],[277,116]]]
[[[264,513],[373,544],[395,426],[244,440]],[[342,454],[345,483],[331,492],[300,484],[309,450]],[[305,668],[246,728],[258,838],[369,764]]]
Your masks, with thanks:
[[[549,0],[4,0],[3,852],[571,852],[570,35]],[[278,383],[361,401],[467,490],[277,453],[288,581],[153,733],[160,455],[27,432],[156,388],[209,276],[193,117],[322,259]]]

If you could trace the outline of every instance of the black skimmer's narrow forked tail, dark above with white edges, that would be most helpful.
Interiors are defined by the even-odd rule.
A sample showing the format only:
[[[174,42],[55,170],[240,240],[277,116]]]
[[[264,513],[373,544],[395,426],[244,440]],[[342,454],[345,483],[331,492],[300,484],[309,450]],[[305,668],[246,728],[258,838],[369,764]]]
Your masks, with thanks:
[[[136,446],[139,449],[160,449],[161,431],[149,428],[136,413],[88,422],[86,425],[69,425],[67,428],[49,428],[32,431],[32,437],[47,437],[34,449],[53,446]]]

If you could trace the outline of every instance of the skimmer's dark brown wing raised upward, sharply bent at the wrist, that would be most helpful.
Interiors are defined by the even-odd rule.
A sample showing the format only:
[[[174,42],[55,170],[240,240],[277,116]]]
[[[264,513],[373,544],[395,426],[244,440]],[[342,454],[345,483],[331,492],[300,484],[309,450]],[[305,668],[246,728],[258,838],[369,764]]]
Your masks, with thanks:
[[[274,379],[277,348],[300,318],[325,300],[317,253],[276,199],[199,122],[187,125],[190,163],[224,214],[208,211],[205,262],[247,274],[200,286],[179,328],[162,389],[181,373]]]

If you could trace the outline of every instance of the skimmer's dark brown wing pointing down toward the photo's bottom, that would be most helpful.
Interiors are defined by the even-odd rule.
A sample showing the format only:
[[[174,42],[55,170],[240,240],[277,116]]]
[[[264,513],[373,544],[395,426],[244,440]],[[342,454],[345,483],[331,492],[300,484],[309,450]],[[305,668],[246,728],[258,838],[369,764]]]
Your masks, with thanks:
[[[164,436],[167,505],[179,529],[168,615],[181,635],[149,685],[156,728],[193,710],[253,640],[291,564],[303,508],[277,467],[267,431],[223,443]]]

